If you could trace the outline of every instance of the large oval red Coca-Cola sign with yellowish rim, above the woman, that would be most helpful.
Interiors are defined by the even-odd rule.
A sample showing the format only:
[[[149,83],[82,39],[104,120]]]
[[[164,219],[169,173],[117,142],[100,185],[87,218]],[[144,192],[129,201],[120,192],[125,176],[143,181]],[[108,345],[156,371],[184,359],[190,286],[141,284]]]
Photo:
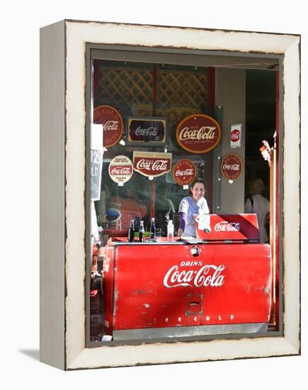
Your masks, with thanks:
[[[196,113],[184,118],[177,126],[177,142],[191,153],[207,153],[221,139],[219,123],[211,116]]]

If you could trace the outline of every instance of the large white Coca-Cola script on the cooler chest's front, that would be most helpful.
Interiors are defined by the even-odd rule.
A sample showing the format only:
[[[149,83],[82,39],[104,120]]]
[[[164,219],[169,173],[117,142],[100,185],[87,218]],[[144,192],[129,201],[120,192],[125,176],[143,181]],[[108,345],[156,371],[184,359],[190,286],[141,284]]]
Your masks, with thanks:
[[[199,266],[199,269],[196,267]],[[184,287],[221,287],[225,282],[223,264],[187,264],[173,265],[167,270],[163,285],[167,289]]]

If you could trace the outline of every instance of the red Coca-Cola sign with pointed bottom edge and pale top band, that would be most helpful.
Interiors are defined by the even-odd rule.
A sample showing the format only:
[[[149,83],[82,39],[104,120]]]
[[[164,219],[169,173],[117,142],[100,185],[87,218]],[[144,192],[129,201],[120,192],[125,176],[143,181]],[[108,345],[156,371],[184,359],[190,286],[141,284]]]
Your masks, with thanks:
[[[150,179],[170,172],[171,160],[172,153],[133,152],[133,168]]]

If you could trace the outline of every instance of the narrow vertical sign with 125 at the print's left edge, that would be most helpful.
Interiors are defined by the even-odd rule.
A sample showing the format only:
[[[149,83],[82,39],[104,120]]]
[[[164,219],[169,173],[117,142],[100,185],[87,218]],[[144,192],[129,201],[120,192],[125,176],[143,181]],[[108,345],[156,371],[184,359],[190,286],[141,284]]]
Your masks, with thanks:
[[[101,197],[101,167],[103,164],[101,130],[101,125],[92,124],[90,147],[90,198],[92,201],[99,201]]]

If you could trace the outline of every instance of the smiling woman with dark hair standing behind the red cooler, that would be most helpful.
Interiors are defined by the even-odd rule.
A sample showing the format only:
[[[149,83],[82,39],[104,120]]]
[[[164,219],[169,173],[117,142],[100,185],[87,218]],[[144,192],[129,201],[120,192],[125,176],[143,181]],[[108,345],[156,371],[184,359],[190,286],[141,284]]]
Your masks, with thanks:
[[[189,187],[189,196],[182,199],[179,206],[180,227],[177,236],[196,237],[196,228],[194,225],[194,215],[209,214],[207,200],[204,198],[205,185],[204,180],[195,179]]]

